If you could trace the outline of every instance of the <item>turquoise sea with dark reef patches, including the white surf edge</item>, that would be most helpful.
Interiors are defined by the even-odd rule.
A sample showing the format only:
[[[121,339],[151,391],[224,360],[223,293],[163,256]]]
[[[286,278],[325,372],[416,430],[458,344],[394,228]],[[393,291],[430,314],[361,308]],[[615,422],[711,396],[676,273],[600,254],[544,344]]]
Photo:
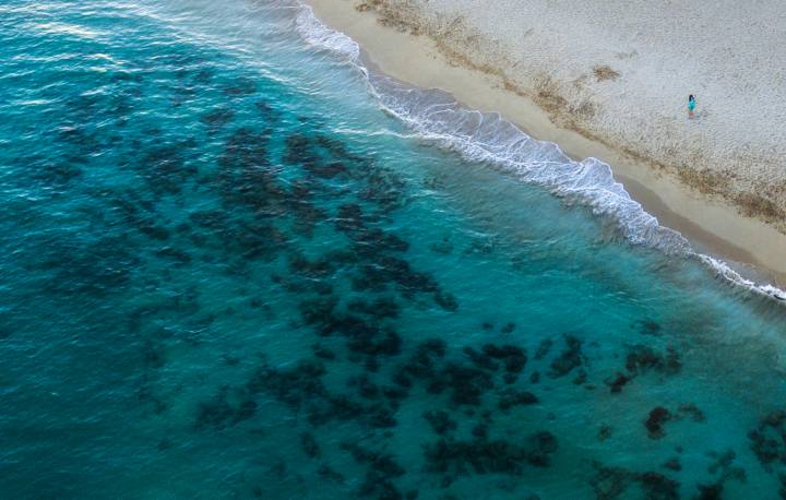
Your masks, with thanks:
[[[0,498],[786,496],[786,308],[604,165],[297,3],[0,21]]]

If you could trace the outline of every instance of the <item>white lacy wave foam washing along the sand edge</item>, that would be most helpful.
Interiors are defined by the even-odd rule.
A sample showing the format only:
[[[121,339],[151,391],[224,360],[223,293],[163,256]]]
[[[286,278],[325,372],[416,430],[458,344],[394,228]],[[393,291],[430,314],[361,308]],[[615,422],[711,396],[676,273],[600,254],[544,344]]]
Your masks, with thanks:
[[[359,70],[382,107],[418,136],[456,151],[466,159],[493,163],[522,180],[590,206],[593,213],[614,221],[633,245],[696,259],[729,283],[786,301],[785,290],[743,277],[726,262],[693,250],[679,233],[662,226],[615,180],[608,164],[597,158],[575,162],[557,144],[528,136],[497,112],[467,109],[446,92],[415,88],[369,71],[361,61],[358,44],[325,26],[308,5],[298,9],[295,26],[307,44],[330,51]]]

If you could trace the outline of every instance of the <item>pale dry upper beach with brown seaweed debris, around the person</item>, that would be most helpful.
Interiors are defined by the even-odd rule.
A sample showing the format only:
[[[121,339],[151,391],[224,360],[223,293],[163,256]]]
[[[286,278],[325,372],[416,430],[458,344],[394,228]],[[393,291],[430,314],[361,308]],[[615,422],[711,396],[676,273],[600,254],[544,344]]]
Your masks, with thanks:
[[[783,2],[368,0],[358,8],[501,78],[559,126],[786,231]]]

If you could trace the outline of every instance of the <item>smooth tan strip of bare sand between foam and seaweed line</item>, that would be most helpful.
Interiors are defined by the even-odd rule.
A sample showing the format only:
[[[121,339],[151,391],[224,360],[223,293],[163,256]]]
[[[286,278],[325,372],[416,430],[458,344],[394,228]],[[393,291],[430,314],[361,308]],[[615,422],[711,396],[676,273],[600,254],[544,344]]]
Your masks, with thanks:
[[[557,143],[573,159],[596,157],[609,164],[633,200],[698,251],[775,286],[786,285],[786,235],[773,226],[607,144],[559,127],[533,99],[507,90],[499,76],[457,64],[430,37],[384,26],[374,12],[360,12],[349,0],[306,3],[327,26],[357,41],[380,71],[414,86],[446,91],[469,108],[498,111],[534,139]]]

